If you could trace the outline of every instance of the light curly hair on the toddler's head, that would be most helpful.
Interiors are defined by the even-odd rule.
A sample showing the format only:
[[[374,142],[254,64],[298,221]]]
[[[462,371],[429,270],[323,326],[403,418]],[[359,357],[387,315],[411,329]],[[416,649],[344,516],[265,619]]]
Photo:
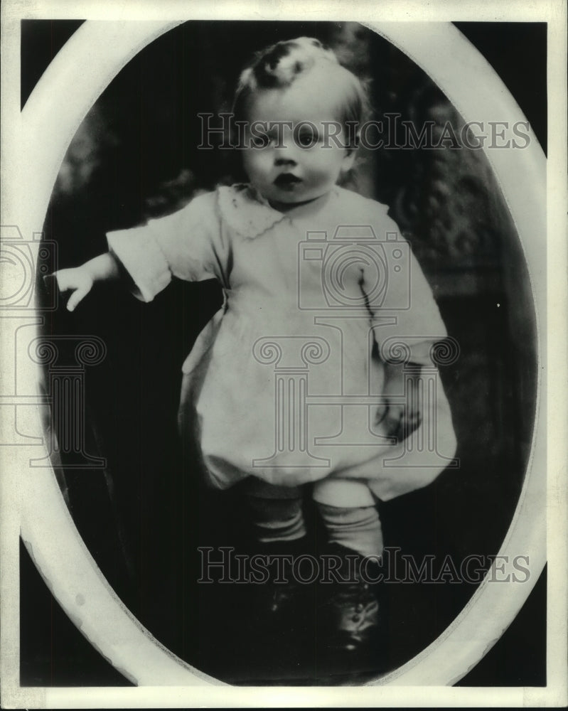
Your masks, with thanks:
[[[326,65],[343,78],[338,82],[345,92],[338,120],[342,124],[363,123],[370,113],[365,83],[343,67],[332,50],[312,37],[278,42],[254,55],[240,75],[232,107],[235,118],[245,119],[247,102],[259,90],[289,87],[299,76]]]

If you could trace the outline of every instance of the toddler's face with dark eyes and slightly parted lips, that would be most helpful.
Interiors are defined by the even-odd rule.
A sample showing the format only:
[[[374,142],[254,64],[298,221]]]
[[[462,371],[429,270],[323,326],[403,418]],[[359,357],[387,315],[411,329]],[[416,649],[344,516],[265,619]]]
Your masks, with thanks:
[[[328,78],[311,73],[285,89],[262,90],[250,102],[247,146],[255,126],[257,135],[262,133],[259,127],[272,124],[273,128],[266,146],[244,149],[245,171],[252,185],[277,209],[325,195],[341,172],[353,165],[353,151],[343,147],[348,137],[338,124],[337,92]],[[316,127],[315,136],[307,122]],[[326,134],[339,130],[337,141],[325,140]]]

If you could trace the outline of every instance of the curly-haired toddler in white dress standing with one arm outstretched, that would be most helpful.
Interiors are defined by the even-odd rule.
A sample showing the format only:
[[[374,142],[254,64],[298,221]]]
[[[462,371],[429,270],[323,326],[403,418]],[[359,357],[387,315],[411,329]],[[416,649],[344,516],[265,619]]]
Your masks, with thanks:
[[[243,71],[235,97],[249,182],[110,232],[109,252],[57,278],[73,292],[70,311],[93,282],[123,268],[144,301],[172,277],[218,279],[224,304],[183,364],[180,405],[183,436],[198,444],[206,479],[220,489],[239,484],[259,542],[300,548],[310,484],[335,550],[379,557],[374,497],[412,491],[442,469],[382,460],[400,455],[404,434],[427,417],[437,417],[448,456],[454,435],[441,385],[434,410],[419,412],[416,398],[401,399],[412,379],[382,352],[396,337],[415,372],[432,368],[432,343],[445,335],[432,292],[387,208],[338,186],[353,166],[367,105],[360,80],[319,41],[267,48]],[[324,273],[339,253],[325,251],[334,236],[348,258]],[[369,237],[380,246],[365,247]],[[331,287],[341,299],[330,304]],[[362,608],[363,627],[338,623],[351,646],[376,623],[369,597],[351,622]]]

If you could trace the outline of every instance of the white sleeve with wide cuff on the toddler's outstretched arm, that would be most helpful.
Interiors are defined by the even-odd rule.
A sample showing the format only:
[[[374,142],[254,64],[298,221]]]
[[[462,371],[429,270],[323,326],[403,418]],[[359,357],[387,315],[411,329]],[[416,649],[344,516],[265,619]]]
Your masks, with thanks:
[[[227,282],[230,245],[221,229],[217,193],[198,196],[173,215],[141,227],[109,232],[107,240],[143,301],[154,299],[172,276]]]

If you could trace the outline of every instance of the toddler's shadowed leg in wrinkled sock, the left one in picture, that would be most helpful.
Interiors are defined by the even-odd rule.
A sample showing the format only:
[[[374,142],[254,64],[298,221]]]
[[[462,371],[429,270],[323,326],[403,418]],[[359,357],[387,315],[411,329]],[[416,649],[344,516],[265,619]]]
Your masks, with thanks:
[[[247,517],[259,542],[287,542],[306,535],[299,487],[274,486],[250,477],[242,491]]]

